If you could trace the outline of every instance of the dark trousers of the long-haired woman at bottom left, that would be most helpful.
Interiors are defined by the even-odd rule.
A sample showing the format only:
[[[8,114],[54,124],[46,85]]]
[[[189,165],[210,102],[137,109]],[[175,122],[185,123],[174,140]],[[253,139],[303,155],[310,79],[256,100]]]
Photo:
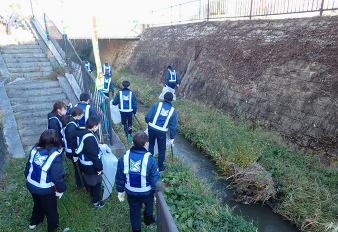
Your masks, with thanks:
[[[59,214],[57,210],[57,198],[55,194],[38,195],[33,194],[33,212],[30,225],[37,225],[43,222],[46,215],[48,232],[53,231],[59,225]]]

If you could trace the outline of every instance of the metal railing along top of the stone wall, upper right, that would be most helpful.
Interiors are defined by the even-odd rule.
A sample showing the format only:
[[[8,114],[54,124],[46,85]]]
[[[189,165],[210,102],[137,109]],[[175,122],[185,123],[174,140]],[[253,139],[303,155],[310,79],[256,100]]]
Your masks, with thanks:
[[[337,10],[338,0],[193,0],[152,11],[153,25]]]

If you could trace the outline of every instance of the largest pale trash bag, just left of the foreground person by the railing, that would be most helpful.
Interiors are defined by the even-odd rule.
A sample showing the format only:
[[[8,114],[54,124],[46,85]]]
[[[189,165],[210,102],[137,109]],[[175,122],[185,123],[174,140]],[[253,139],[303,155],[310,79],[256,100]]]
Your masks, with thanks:
[[[107,144],[100,144],[100,149],[102,151],[102,164],[104,173],[102,175],[102,185],[104,188],[102,200],[105,200],[113,191],[118,159],[112,153]]]

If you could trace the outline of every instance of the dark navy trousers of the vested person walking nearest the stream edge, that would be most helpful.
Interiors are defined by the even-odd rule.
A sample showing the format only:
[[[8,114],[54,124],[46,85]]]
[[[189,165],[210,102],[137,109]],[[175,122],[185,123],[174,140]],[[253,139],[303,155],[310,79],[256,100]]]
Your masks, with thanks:
[[[148,127],[149,136],[149,152],[154,155],[155,139],[157,139],[158,147],[158,169],[162,171],[164,169],[163,163],[165,160],[166,145],[166,132],[159,132]]]

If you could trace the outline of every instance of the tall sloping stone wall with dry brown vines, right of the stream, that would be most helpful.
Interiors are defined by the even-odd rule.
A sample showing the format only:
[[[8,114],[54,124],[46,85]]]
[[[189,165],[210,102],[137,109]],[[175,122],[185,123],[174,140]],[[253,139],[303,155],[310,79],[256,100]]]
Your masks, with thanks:
[[[279,132],[292,145],[338,158],[338,17],[201,22],[148,28],[127,70],[179,95]],[[196,112],[198,113],[198,112]]]

